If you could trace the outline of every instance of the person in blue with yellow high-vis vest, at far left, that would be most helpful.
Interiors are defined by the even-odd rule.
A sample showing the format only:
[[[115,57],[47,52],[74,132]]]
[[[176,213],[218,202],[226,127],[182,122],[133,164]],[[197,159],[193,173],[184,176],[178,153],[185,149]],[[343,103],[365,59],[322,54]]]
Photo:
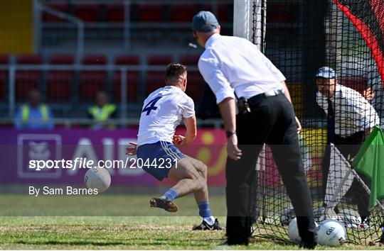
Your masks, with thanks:
[[[40,91],[32,90],[28,95],[28,103],[22,104],[15,118],[17,129],[53,129],[54,123],[50,108],[41,104]]]

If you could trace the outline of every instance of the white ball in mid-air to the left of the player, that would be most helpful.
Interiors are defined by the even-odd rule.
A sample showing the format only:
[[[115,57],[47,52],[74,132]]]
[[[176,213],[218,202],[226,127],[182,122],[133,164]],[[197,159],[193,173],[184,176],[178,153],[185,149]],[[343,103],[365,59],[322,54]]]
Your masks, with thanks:
[[[97,189],[97,193],[102,193],[110,187],[110,172],[108,172],[105,168],[92,167],[85,173],[84,183],[87,188]]]

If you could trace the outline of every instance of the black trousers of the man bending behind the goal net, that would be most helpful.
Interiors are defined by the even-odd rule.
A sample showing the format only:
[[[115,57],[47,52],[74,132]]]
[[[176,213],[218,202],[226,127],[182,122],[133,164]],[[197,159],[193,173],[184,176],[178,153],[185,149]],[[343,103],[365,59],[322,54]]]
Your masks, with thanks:
[[[364,132],[354,133],[346,138],[341,137],[340,135],[335,135],[335,146],[340,151],[340,153],[346,158],[346,160],[351,160],[356,157],[358,150],[360,150],[361,144],[364,141]],[[331,150],[329,145],[326,146],[326,152],[324,154],[324,167],[322,169],[323,174],[323,197],[326,195],[326,183],[329,174],[329,165],[331,161]],[[370,186],[370,180],[365,176],[361,176],[363,182]],[[369,215],[368,205],[369,205],[369,195],[366,193],[366,190],[363,188],[362,184],[358,182],[356,178],[353,178],[351,187],[346,192],[346,195],[350,198],[352,203],[356,203],[358,206],[358,213],[361,216],[362,221],[364,221]],[[338,213],[338,207],[334,208],[334,211]]]

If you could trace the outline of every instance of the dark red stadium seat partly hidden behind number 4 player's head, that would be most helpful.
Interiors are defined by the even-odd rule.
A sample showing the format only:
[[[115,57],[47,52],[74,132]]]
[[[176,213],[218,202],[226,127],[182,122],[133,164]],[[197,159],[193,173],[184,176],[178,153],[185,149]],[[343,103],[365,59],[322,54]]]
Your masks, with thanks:
[[[146,95],[152,91],[164,86],[166,65],[173,61],[171,55],[149,55],[146,59],[148,65],[164,66],[164,71],[149,71],[146,72]]]

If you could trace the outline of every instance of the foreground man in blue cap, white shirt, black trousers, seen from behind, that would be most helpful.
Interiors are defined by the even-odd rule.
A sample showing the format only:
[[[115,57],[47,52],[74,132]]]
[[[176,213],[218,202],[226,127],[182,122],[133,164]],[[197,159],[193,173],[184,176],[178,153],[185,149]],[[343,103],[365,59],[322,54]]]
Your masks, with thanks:
[[[298,218],[302,246],[314,248],[316,226],[297,138],[301,126],[284,75],[250,41],[220,35],[220,25],[209,11],[193,17],[193,35],[206,49],[198,69],[215,94],[228,138],[228,245],[249,242],[250,189],[257,186],[255,163],[268,143]]]

